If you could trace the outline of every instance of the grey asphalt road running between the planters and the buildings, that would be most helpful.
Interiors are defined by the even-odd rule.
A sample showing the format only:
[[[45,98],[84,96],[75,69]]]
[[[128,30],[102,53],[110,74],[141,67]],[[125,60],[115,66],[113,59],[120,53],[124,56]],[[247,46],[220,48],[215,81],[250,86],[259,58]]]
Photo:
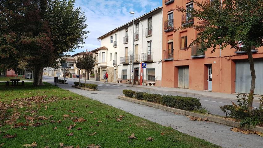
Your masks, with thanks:
[[[54,77],[43,76],[43,81],[45,80],[54,82]],[[72,78],[70,79],[66,78],[66,80],[68,84],[73,84],[73,82],[78,81],[78,79],[72,79]],[[84,80],[82,79],[80,79],[80,81],[84,82]],[[237,103],[236,99],[229,99],[229,98],[207,97],[207,96],[202,96],[202,95],[191,95],[191,94],[178,93],[178,92],[168,92],[168,91],[159,91],[159,90],[153,90],[153,89],[120,86],[120,85],[107,84],[107,83],[101,83],[101,82],[89,81],[89,80],[86,80],[86,83],[97,84],[99,90],[110,92],[116,95],[123,95],[122,94],[123,89],[132,89],[134,91],[141,91],[141,92],[151,92],[151,93],[166,94],[166,95],[178,95],[178,96],[183,96],[183,97],[196,97],[200,99],[202,106],[205,109],[207,109],[209,113],[215,114],[215,115],[221,115],[221,116],[224,116],[225,113],[221,111],[220,106],[231,104],[231,101]],[[259,107],[259,102],[256,100],[253,101],[253,107],[254,108]]]

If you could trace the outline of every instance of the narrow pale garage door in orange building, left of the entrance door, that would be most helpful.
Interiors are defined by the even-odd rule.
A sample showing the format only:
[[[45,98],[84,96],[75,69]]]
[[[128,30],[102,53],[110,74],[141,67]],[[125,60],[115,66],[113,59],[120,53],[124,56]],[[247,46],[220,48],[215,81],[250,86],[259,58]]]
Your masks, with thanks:
[[[178,87],[189,88],[189,66],[178,67]]]

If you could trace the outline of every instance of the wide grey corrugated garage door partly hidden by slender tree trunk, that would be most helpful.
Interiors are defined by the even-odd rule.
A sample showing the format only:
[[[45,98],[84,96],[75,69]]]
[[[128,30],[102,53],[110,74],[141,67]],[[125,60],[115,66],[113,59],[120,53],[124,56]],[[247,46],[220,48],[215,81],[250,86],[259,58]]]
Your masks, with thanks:
[[[254,59],[256,71],[256,95],[263,95],[263,59]],[[251,73],[248,60],[236,61],[236,93],[249,93]]]

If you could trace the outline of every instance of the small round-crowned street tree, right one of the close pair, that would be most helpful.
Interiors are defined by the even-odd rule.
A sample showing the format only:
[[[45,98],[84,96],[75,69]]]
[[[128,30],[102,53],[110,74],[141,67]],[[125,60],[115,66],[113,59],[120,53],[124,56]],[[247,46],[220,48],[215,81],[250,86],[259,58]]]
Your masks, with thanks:
[[[85,87],[86,87],[86,75],[95,67],[96,58],[93,57],[92,52],[87,52],[83,55],[83,69],[85,69]]]

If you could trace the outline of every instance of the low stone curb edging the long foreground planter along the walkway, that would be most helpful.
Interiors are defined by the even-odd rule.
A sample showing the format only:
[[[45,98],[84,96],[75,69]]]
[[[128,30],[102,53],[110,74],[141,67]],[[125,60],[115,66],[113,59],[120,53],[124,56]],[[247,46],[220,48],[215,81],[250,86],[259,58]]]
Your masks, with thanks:
[[[152,103],[152,102],[148,102],[148,101],[137,100],[137,99],[133,99],[133,98],[125,97],[125,96],[118,96],[118,99],[122,99],[122,100],[130,101],[130,102],[154,107],[156,109],[166,110],[166,111],[173,112],[173,113],[184,114],[184,115],[198,117],[198,118],[202,118],[202,119],[207,118],[208,121],[212,121],[212,122],[216,122],[216,123],[220,123],[220,124],[224,124],[224,125],[229,125],[229,126],[238,127],[238,128],[240,127],[239,122],[237,122],[237,121],[231,121],[231,120],[227,120],[227,119],[212,116],[212,115],[204,115],[204,114],[200,114],[200,113],[189,112],[189,111],[182,110],[182,109],[175,109],[175,108],[167,107],[164,105],[160,105],[160,104],[156,104],[156,103]],[[248,129],[245,126],[244,129],[263,132],[263,127],[260,127],[260,126],[254,126],[254,127],[252,126],[250,129]]]

